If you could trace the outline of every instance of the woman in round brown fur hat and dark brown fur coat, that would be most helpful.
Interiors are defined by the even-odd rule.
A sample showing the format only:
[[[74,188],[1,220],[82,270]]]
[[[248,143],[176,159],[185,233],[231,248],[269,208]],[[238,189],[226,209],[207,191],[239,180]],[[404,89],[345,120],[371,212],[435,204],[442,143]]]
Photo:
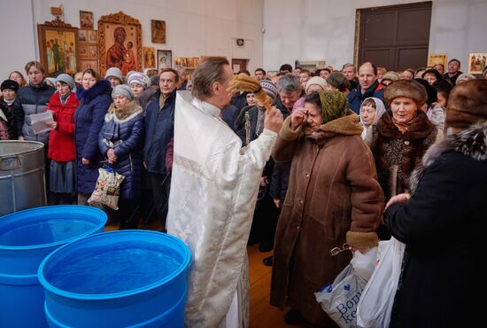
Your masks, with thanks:
[[[408,192],[408,179],[431,144],[443,138],[421,106],[428,98],[421,83],[399,80],[384,90],[389,111],[372,127],[366,140],[374,154],[379,183],[386,200]]]

